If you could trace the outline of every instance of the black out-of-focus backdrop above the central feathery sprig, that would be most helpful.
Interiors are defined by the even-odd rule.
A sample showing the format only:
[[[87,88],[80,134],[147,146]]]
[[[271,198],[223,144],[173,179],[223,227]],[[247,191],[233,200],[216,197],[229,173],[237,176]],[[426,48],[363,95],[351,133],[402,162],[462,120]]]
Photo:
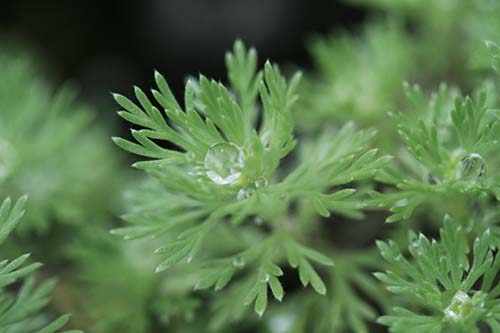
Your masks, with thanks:
[[[339,1],[309,0],[0,0],[1,45],[28,49],[45,74],[71,80],[102,112],[109,92],[130,95],[162,72],[177,95],[186,75],[225,79],[224,53],[236,38],[260,61],[307,68],[308,37],[361,23],[365,13]],[[5,41],[9,42],[5,44]]]

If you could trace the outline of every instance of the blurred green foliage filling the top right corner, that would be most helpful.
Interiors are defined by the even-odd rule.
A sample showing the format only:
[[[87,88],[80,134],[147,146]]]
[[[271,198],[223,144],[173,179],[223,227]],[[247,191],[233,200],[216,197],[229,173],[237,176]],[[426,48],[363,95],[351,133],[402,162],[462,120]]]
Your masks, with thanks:
[[[500,3],[491,0],[413,1],[350,0],[376,8],[413,26],[413,42],[419,45],[419,70],[424,77],[449,75],[463,84],[475,84],[471,69],[487,71],[484,40],[500,40]],[[453,73],[450,75],[450,72]]]

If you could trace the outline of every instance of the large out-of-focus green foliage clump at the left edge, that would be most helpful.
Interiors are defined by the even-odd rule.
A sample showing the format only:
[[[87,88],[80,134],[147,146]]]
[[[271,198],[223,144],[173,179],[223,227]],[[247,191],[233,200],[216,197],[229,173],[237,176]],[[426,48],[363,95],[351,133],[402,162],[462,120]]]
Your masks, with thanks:
[[[91,110],[71,86],[52,90],[25,56],[2,50],[0,66],[0,195],[31,198],[19,231],[45,233],[108,211],[117,158]]]

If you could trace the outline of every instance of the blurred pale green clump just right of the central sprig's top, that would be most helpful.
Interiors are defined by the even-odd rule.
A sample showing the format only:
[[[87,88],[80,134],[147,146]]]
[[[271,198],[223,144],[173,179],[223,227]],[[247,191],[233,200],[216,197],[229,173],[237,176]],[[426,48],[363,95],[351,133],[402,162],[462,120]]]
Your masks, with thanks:
[[[315,36],[309,49],[315,72],[306,77],[302,103],[314,111],[297,110],[303,130],[314,131],[328,121],[372,126],[398,105],[401,82],[416,77],[417,49],[397,19],[373,20],[356,34]]]

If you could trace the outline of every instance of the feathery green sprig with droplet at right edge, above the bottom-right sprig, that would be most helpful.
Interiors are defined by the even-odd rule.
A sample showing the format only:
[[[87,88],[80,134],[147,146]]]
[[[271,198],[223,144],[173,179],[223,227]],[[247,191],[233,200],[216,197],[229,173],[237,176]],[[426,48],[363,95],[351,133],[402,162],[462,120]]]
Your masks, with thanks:
[[[397,190],[373,192],[372,203],[390,208],[388,222],[408,219],[421,206],[453,210],[460,218],[470,217],[470,205],[492,208],[491,198],[500,194],[500,179],[492,171],[500,166],[497,98],[488,99],[486,90],[462,98],[442,85],[427,101],[418,86],[405,89],[412,110],[393,121],[406,152],[399,156],[400,167],[379,177]],[[454,207],[458,203],[460,208]]]

